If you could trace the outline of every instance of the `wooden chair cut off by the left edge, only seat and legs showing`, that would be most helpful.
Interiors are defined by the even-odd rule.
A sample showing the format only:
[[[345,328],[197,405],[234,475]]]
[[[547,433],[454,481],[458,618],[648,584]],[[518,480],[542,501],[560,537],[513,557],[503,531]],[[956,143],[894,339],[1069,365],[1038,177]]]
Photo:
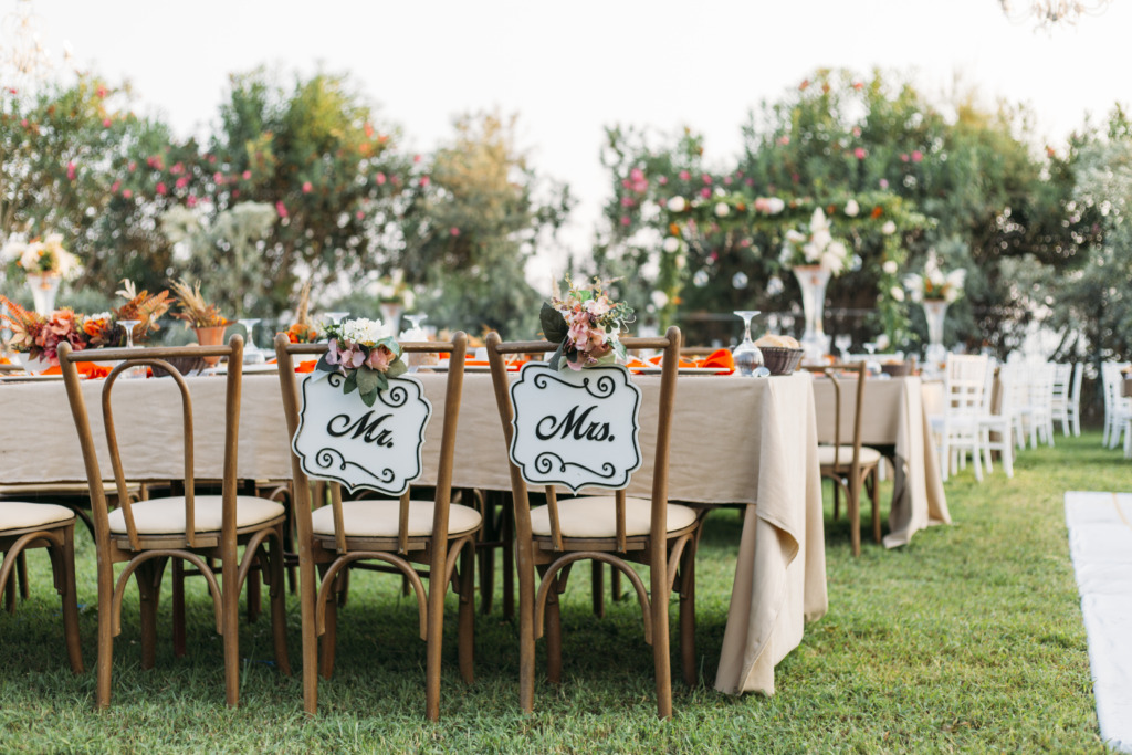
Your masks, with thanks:
[[[63,601],[63,635],[71,671],[83,671],[83,651],[78,636],[78,602],[75,598],[75,514],[63,506],[0,501],[0,591],[7,585],[8,610],[15,610],[14,569],[25,551],[45,548],[51,557],[55,590]],[[26,587],[26,582],[24,583]],[[26,592],[25,592],[26,598]]]

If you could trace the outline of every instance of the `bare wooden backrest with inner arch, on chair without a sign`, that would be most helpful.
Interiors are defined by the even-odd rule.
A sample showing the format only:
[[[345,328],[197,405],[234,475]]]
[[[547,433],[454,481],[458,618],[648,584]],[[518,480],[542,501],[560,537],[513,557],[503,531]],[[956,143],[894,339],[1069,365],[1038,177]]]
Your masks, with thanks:
[[[59,346],[59,364],[67,386],[67,398],[70,401],[71,414],[78,430],[79,445],[83,448],[83,461],[86,465],[87,482],[91,487],[91,508],[96,537],[108,537],[110,532],[109,508],[103,477],[98,469],[98,456],[95,452],[94,436],[91,432],[91,417],[87,413],[86,400],[83,397],[79,384],[77,362],[118,362],[102,384],[102,421],[106,432],[106,447],[110,452],[110,463],[114,473],[118,505],[122,509],[126,533],[130,547],[140,549],[137,527],[134,523],[130,496],[127,489],[126,470],[119,453],[118,435],[114,429],[114,418],[111,396],[122,372],[135,368],[152,368],[164,370],[177,384],[181,398],[181,430],[185,487],[185,544],[196,546],[196,518],[194,511],[195,474],[194,467],[194,432],[192,432],[192,397],[189,393],[185,375],[179,366],[198,364],[205,358],[228,359],[226,389],[224,393],[224,461],[222,473],[223,514],[221,531],[223,539],[235,537],[235,497],[237,497],[237,441],[240,428],[240,391],[243,377],[243,338],[233,335],[228,345],[215,346],[174,346],[163,349],[87,349],[71,351],[69,344]]]

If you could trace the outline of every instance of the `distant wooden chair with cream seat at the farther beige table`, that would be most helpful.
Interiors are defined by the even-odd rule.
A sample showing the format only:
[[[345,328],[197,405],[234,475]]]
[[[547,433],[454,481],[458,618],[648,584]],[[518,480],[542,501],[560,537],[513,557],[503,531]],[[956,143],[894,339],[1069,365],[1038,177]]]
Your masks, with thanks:
[[[865,362],[849,364],[824,364],[805,367],[816,375],[822,375],[833,384],[833,444],[817,446],[817,458],[822,467],[822,477],[833,481],[833,515],[838,515],[840,494],[846,495],[846,509],[849,516],[849,543],[854,556],[860,556],[860,495],[861,488],[868,484],[869,498],[873,504],[873,539],[881,542],[881,501],[877,478],[882,455],[875,448],[863,446],[860,441],[860,419],[865,406],[865,379],[868,369]],[[852,404],[851,440],[841,443],[841,381],[844,378],[856,380]]]

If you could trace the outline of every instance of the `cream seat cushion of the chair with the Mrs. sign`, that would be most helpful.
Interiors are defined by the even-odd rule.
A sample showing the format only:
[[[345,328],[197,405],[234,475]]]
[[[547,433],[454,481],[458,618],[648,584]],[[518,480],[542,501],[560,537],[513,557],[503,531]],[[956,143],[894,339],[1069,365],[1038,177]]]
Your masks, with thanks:
[[[564,538],[616,538],[617,498],[615,496],[584,496],[558,501],[558,525]],[[679,504],[668,504],[668,531],[675,532],[695,523],[696,512]],[[649,534],[652,522],[652,501],[645,498],[625,499],[625,534]],[[531,532],[550,537],[550,509],[539,506],[531,509]]]

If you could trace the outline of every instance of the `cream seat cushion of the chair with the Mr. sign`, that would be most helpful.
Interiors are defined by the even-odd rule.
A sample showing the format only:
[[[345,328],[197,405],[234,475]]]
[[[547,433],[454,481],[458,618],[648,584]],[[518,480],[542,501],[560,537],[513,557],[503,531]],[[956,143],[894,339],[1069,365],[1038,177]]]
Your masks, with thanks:
[[[431,500],[409,501],[410,538],[424,538],[432,534]],[[342,526],[348,538],[396,538],[397,518],[401,513],[400,501],[386,500],[343,500]],[[475,530],[481,522],[480,513],[474,508],[452,504],[448,506],[448,534],[460,535]],[[323,506],[310,514],[310,523],[315,534],[334,534],[334,507]]]

